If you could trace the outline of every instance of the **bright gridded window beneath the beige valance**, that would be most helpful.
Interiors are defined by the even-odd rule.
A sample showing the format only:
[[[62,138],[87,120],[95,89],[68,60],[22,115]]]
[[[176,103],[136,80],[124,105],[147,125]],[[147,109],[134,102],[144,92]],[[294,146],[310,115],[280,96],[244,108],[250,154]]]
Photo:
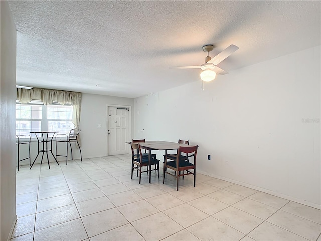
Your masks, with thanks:
[[[50,104],[40,101],[28,104],[16,103],[16,135],[30,135],[30,132],[58,131],[67,133],[75,128],[72,123],[73,106]],[[52,135],[49,135],[52,136]],[[31,137],[36,137],[32,134]]]

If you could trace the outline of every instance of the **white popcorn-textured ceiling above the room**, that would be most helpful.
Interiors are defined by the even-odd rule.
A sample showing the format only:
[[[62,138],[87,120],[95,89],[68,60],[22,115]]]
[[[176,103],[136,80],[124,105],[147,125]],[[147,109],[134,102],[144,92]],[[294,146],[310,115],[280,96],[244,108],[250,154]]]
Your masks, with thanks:
[[[9,1],[17,84],[139,97],[193,81],[202,46],[235,69],[321,44],[320,1]],[[273,71],[273,70],[271,70]],[[226,75],[225,75],[226,76]],[[217,78],[224,79],[225,76]]]

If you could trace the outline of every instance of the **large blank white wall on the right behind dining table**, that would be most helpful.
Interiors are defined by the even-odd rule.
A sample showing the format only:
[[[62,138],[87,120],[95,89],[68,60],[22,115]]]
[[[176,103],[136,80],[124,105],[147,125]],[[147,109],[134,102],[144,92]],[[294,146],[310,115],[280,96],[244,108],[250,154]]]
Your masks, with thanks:
[[[199,172],[320,208],[320,52],[137,98],[134,138],[190,140]]]

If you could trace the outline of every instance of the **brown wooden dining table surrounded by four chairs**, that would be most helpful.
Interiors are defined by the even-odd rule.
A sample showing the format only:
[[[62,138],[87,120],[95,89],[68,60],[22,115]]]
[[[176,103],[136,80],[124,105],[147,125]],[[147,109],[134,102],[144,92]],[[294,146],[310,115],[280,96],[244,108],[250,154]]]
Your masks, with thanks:
[[[126,142],[131,144],[131,142]],[[169,150],[178,150],[179,147],[188,147],[188,144],[179,144],[177,142],[168,142],[168,141],[145,141],[145,142],[137,142],[139,143],[140,148],[148,150],[148,158],[151,160],[151,151],[165,151],[165,155],[167,155],[167,151]],[[149,183],[151,183],[151,167],[149,167]]]

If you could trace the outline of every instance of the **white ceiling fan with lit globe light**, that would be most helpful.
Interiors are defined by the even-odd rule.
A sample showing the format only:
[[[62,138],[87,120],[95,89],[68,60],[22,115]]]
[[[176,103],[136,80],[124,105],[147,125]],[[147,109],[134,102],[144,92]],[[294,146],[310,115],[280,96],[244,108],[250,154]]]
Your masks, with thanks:
[[[202,65],[194,65],[194,66],[181,66],[181,67],[170,67],[175,69],[202,69],[200,76],[202,81],[202,86],[204,90],[204,81],[212,81],[215,79],[216,74],[228,74],[225,70],[217,67],[219,63],[221,63],[224,59],[229,57],[233,52],[239,49],[239,47],[231,44],[229,47],[224,49],[221,53],[217,54],[213,58],[209,56],[209,52],[214,49],[213,45],[205,45],[203,46],[203,51],[207,52],[207,56],[205,57],[205,63]]]

